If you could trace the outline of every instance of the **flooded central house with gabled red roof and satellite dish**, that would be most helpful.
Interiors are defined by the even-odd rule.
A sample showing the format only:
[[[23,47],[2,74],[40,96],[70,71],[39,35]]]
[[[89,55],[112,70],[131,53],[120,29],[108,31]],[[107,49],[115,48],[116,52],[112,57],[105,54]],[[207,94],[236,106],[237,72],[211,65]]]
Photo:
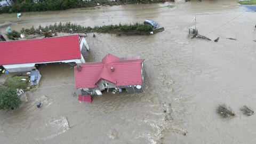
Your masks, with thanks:
[[[117,93],[142,92],[145,71],[140,57],[118,58],[107,54],[101,62],[82,63],[74,68],[75,86],[82,94],[101,95],[101,91]]]

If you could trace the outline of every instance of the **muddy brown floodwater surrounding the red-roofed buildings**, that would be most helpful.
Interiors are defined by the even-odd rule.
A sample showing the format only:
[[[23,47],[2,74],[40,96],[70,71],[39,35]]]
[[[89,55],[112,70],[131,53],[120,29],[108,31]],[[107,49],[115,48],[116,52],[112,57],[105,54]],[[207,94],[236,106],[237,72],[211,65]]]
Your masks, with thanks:
[[[256,116],[244,116],[239,108],[256,109],[256,13],[230,0],[177,2],[172,9],[168,4],[31,12],[20,19],[1,14],[0,26],[17,30],[59,21],[102,26],[147,18],[165,31],[88,34],[87,62],[107,53],[146,59],[144,92],[103,93],[92,103],[79,102],[70,65],[41,66],[39,88],[23,95],[20,108],[0,111],[0,143],[255,143]],[[190,38],[195,13],[199,34],[220,37],[217,43]],[[234,118],[215,112],[222,102],[233,108]]]

